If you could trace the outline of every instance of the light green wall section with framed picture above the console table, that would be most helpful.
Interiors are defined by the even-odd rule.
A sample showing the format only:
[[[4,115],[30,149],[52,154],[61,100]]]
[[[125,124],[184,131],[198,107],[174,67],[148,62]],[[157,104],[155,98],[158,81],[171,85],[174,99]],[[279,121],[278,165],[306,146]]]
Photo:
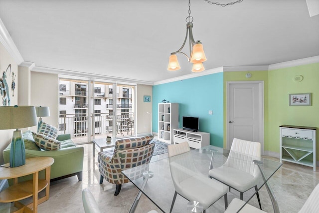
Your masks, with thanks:
[[[293,81],[302,75],[303,81]],[[279,126],[282,124],[319,128],[319,63],[270,70],[269,79],[269,142],[265,150],[279,152]],[[311,106],[289,106],[289,94],[311,93]],[[319,133],[317,130],[317,141]],[[317,146],[317,152],[318,152]],[[319,155],[317,155],[317,160]]]

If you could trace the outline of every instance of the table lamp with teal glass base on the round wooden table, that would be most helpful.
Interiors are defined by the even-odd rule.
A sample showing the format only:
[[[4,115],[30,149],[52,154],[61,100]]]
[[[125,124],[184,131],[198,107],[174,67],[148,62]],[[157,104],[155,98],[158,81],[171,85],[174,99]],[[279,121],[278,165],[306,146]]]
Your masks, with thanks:
[[[25,149],[22,132],[19,128],[36,125],[34,106],[3,106],[0,107],[0,129],[15,129],[12,135],[10,148],[10,167],[19,167],[25,164]]]

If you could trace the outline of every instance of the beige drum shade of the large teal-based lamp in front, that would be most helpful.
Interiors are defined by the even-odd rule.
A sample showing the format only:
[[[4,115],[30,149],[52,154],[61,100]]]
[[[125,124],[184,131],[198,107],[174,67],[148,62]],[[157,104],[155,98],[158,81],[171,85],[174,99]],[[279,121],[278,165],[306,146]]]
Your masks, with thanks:
[[[0,107],[0,129],[19,129],[37,125],[34,106]]]

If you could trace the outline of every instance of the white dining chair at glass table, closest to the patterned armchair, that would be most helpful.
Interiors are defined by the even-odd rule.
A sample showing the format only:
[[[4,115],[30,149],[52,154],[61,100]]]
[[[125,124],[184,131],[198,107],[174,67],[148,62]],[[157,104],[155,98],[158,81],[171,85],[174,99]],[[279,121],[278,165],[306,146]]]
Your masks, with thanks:
[[[167,148],[169,168],[175,188],[169,212],[171,213],[173,209],[177,194],[188,201],[199,202],[203,206],[203,213],[224,196],[225,209],[227,209],[228,187],[197,171],[188,142],[169,145]]]

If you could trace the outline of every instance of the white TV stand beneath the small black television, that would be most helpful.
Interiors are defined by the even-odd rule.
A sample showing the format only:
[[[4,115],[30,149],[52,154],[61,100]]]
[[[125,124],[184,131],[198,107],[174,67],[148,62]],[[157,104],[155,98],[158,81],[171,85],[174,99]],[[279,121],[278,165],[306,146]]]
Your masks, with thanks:
[[[174,144],[187,141],[189,147],[198,149],[209,145],[209,133],[174,129],[173,141]]]

